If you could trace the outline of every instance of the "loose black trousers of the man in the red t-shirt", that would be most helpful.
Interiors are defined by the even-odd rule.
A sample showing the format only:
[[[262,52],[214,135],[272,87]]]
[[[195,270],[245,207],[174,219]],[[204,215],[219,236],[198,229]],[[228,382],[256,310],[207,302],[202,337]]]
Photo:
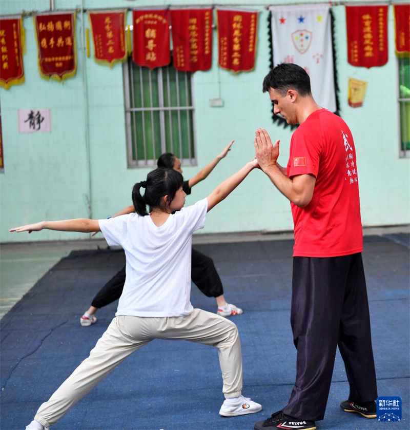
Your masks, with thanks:
[[[288,405],[282,409],[286,415],[323,419],[336,346],[346,368],[349,400],[377,399],[361,253],[294,257],[291,325],[297,349],[296,382]]]

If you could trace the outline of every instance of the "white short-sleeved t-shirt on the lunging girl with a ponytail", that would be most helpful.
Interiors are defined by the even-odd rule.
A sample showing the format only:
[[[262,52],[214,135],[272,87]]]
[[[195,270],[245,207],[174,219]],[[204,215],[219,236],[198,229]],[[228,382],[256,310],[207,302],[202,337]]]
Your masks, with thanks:
[[[207,210],[208,200],[200,200],[170,214],[160,227],[137,213],[98,221],[107,243],[122,246],[127,260],[116,316],[191,314],[192,233],[203,228]]]

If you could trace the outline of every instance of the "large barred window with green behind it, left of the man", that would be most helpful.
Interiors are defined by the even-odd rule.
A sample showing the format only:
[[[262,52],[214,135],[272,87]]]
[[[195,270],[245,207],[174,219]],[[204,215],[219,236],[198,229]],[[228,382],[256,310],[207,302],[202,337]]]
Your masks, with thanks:
[[[172,64],[150,70],[124,63],[128,167],[154,166],[163,152],[195,161],[192,76]]]

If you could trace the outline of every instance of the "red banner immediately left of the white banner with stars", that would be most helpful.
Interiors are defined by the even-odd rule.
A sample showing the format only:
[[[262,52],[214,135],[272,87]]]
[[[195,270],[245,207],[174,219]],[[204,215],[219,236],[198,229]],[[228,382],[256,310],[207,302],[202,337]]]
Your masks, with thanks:
[[[255,67],[257,12],[217,9],[219,66],[234,72]]]

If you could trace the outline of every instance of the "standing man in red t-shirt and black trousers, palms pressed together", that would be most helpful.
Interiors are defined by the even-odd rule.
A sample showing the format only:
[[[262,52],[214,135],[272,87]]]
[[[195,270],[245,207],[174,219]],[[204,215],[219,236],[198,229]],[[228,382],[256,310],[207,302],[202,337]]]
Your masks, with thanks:
[[[361,251],[362,225],[353,136],[337,115],[321,108],[309,75],[282,63],[263,81],[275,114],[293,133],[286,169],[279,141],[256,130],[260,168],[291,201],[295,224],[291,325],[297,348],[296,382],[288,405],[255,430],[313,430],[322,420],[339,346],[350,385],[346,412],[376,418],[377,386]]]

